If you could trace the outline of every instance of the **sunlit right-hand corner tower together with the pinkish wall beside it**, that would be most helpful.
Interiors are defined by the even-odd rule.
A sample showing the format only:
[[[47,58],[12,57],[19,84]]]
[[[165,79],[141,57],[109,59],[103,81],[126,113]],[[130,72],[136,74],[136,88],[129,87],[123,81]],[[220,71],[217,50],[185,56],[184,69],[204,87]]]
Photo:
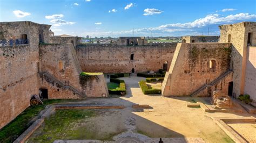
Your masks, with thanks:
[[[234,70],[233,95],[249,94],[256,101],[256,23],[221,25],[220,42],[231,42],[231,65]],[[249,36],[250,34],[250,36]],[[254,68],[253,68],[254,67]]]

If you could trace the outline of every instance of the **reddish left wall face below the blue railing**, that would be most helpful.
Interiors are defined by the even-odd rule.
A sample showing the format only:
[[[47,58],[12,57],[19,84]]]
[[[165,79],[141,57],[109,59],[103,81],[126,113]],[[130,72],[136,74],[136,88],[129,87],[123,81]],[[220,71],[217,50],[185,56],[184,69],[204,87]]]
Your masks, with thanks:
[[[30,105],[33,94],[38,94],[35,49],[29,44],[0,47],[0,128]]]

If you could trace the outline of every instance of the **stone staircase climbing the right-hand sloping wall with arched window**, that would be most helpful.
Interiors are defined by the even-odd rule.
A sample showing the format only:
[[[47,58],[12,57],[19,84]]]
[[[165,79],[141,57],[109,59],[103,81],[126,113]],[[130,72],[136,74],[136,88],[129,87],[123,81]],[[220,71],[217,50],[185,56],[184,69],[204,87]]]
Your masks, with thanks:
[[[228,69],[227,71],[225,71],[224,73],[222,73],[219,77],[217,77],[215,80],[213,80],[212,82],[208,83],[208,84],[204,84],[203,86],[201,86],[200,88],[198,88],[196,91],[192,92],[192,94],[190,96],[194,97],[198,94],[200,94],[200,92],[204,91],[206,88],[208,87],[212,87],[213,85],[217,84],[218,82],[220,82],[221,80],[223,80],[226,76],[228,76],[229,74],[233,73],[232,69]]]

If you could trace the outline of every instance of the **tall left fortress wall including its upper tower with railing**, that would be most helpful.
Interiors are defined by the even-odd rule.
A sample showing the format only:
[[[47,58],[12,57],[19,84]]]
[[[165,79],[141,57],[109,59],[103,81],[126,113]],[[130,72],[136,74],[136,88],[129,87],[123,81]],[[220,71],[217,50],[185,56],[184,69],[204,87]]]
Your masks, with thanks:
[[[48,41],[50,25],[12,22],[0,23],[0,28],[1,128],[30,105],[33,94],[38,94],[39,35]]]

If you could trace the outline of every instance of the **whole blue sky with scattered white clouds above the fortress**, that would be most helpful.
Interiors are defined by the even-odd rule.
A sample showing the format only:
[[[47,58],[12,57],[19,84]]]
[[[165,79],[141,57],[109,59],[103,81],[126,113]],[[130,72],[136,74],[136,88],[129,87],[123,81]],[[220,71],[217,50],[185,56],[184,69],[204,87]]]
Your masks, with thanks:
[[[0,0],[0,22],[24,20],[50,24],[56,35],[218,35],[218,25],[256,22],[256,1]]]

